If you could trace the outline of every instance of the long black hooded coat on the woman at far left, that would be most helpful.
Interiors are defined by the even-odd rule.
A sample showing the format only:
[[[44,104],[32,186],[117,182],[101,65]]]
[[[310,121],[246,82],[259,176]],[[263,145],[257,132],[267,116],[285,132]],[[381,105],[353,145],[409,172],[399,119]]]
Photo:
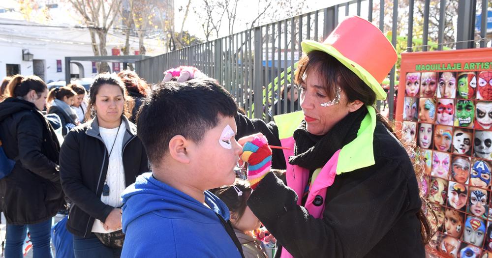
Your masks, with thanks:
[[[0,180],[7,223],[26,225],[53,217],[64,205],[53,127],[31,102],[8,98],[0,103],[0,139],[12,172]]]

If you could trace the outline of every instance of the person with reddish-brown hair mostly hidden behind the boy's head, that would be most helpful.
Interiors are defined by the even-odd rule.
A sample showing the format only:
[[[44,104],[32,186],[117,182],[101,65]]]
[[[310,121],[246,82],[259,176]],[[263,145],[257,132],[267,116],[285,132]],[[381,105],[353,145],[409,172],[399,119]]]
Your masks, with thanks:
[[[145,97],[147,97],[150,87],[133,71],[124,70],[120,72],[118,76],[122,79],[128,95],[135,101],[135,106],[131,111],[131,117],[128,117],[132,123],[135,123],[137,120],[138,109],[140,109]]]

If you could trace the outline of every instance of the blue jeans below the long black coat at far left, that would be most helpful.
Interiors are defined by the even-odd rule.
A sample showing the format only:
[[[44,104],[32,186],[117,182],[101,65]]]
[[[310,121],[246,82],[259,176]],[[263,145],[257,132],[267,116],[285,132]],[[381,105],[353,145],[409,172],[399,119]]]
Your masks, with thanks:
[[[22,244],[26,239],[27,229],[31,234],[32,257],[52,258],[51,253],[51,219],[36,224],[12,225],[7,224],[5,236],[5,257],[23,258]]]

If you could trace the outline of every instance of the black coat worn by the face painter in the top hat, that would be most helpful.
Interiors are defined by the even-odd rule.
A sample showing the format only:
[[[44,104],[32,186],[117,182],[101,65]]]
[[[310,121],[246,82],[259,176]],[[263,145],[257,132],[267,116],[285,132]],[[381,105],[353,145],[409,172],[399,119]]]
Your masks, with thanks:
[[[261,126],[260,121],[251,122],[241,115],[236,121],[239,121],[238,137],[251,133],[255,127],[267,136],[270,144],[279,143],[274,123]],[[248,206],[291,255],[296,258],[425,256],[416,215],[422,203],[408,154],[379,122],[373,139],[375,165],[335,177],[323,197],[322,219],[313,218],[297,205],[297,194],[273,173],[260,181],[249,197]],[[273,168],[276,163],[280,168],[285,166],[281,159],[283,153],[274,150]]]

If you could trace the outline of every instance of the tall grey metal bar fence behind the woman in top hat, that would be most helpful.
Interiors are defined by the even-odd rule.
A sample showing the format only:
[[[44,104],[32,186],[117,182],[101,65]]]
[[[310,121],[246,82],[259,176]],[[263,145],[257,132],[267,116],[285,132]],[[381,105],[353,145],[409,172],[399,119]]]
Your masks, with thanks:
[[[478,2],[477,2],[478,1]],[[453,42],[445,42],[446,8],[438,8],[439,14],[430,13],[431,5],[436,12],[435,4],[446,7],[457,3],[456,38]],[[423,9],[423,17],[414,9],[416,4]],[[481,7],[478,7],[481,6]],[[359,15],[375,23],[397,46],[398,35],[406,37],[406,51],[443,50],[445,46],[464,49],[487,47],[486,22],[482,19],[481,30],[475,29],[475,13],[477,9],[481,17],[487,17],[488,0],[352,0],[333,5],[321,10],[301,14],[271,24],[247,29],[236,34],[218,38],[213,41],[186,47],[156,57],[136,62],[136,72],[150,83],[160,83],[163,71],[180,65],[195,66],[226,87],[235,97],[240,107],[244,108],[249,117],[271,120],[282,110],[279,99],[287,99],[287,91],[281,88],[294,86],[294,73],[291,68],[301,57],[301,41],[312,39],[322,41],[343,17]],[[403,11],[402,11],[403,10]],[[405,17],[399,17],[399,11]],[[374,15],[374,17],[373,17]],[[376,16],[378,15],[378,16]],[[402,15],[403,16],[403,15]],[[441,19],[442,17],[442,19]],[[375,19],[373,19],[375,18]],[[430,18],[437,20],[437,28],[430,24]],[[423,32],[414,34],[414,21],[423,19]],[[373,21],[374,20],[374,21]],[[398,31],[399,22],[405,28]],[[391,25],[388,25],[391,21]],[[386,24],[385,24],[386,22]],[[435,27],[435,26],[434,26]],[[386,31],[385,31],[386,30]],[[389,36],[391,35],[391,36]],[[437,35],[437,43],[432,43],[429,35]],[[419,43],[414,39],[419,38]],[[420,44],[420,45],[419,45]],[[393,97],[395,94],[395,67],[389,75],[388,99],[378,102],[379,110],[388,109],[389,117],[393,117]],[[285,74],[284,74],[285,73]],[[278,78],[278,80],[276,80]],[[291,99],[294,90],[290,91]],[[276,103],[276,104],[275,104]],[[283,110],[287,110],[287,101],[283,102]],[[290,102],[290,109],[299,108],[299,103]],[[260,108],[254,108],[260,107]],[[270,114],[269,114],[270,113]]]

